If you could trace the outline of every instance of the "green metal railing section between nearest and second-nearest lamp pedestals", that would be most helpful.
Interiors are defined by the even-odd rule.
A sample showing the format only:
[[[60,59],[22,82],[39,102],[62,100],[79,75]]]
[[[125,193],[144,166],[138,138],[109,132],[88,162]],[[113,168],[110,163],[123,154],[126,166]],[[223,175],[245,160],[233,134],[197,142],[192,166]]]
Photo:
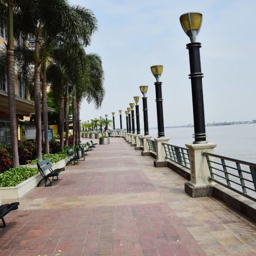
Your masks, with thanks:
[[[165,151],[165,158],[172,160],[187,169],[190,169],[189,150],[186,147],[162,143]]]

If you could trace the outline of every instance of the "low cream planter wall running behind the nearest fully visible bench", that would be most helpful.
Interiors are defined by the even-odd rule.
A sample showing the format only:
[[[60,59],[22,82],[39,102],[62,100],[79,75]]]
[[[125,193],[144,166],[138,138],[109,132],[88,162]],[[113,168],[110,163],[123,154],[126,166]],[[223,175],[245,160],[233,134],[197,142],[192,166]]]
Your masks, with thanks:
[[[57,163],[53,163],[53,169],[65,167],[68,161],[69,158],[67,157],[65,159],[60,160]],[[37,168],[36,164],[20,166]],[[48,174],[49,172],[50,171],[47,170],[46,174]],[[15,187],[0,187],[0,198],[2,198],[2,200],[19,199],[23,197],[26,193],[28,193],[31,189],[36,187],[37,183],[40,181],[41,178],[42,176],[40,174],[36,174],[33,177],[30,177],[29,179],[23,181],[22,183],[17,184]]]

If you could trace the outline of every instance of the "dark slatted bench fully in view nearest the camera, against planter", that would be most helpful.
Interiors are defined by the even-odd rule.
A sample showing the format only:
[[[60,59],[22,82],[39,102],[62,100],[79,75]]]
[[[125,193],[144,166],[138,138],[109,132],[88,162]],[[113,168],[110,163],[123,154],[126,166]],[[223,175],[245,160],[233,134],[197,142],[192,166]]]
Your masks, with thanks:
[[[62,172],[63,170],[65,170],[65,167],[63,167],[63,168],[57,168],[57,169],[53,169],[52,167],[53,167],[53,165],[52,165],[52,163],[50,162],[49,159],[42,160],[42,161],[40,161],[40,162],[37,163],[37,168],[38,168],[38,170],[39,170],[39,173],[40,173],[41,176],[42,176],[42,179],[38,182],[37,187],[39,187],[40,183],[41,183],[43,180],[45,181],[45,187],[46,187],[46,186],[51,186],[51,185],[52,185],[52,182],[51,182],[51,180],[50,180],[49,178],[52,177],[52,180],[53,180],[54,177],[57,177],[56,180],[58,180],[58,179],[59,179],[59,177],[58,177],[58,176],[59,176],[59,173]],[[45,174],[45,172],[46,172],[47,170],[50,170],[50,173],[49,173],[49,174]],[[50,181],[50,185],[47,185],[47,180]]]

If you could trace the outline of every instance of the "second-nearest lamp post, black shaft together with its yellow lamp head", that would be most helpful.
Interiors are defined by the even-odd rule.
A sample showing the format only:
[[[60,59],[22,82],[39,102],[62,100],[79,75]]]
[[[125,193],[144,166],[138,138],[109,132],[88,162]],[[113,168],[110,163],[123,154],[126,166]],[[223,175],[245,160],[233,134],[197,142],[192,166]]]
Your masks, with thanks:
[[[163,66],[152,66],[151,71],[156,78],[156,102],[157,102],[157,126],[158,138],[164,137],[164,124],[163,124],[163,99],[162,99],[162,82],[159,81],[163,72]]]

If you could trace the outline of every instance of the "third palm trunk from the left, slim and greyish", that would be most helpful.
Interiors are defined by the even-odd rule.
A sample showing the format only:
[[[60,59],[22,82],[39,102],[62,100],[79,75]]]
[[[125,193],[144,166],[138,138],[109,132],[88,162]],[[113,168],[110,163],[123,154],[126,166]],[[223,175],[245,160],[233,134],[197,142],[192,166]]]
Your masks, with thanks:
[[[42,79],[42,122],[44,123],[45,150],[46,154],[50,154],[49,149],[49,133],[48,133],[48,105],[47,105],[47,82],[46,82],[46,62],[41,64]]]

